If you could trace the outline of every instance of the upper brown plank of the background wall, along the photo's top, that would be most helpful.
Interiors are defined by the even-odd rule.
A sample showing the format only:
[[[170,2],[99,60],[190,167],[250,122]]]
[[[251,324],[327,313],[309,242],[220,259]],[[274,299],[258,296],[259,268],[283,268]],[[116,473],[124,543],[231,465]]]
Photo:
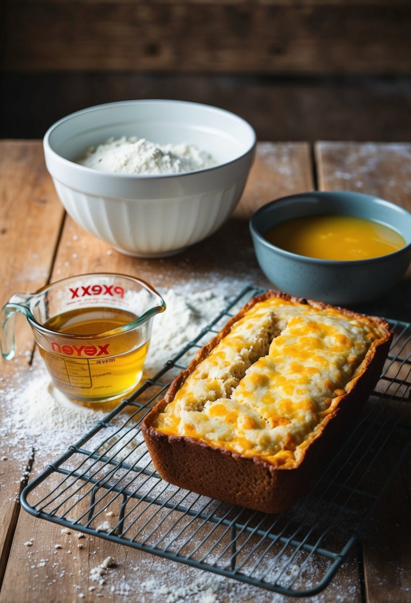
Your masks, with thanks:
[[[409,2],[5,0],[4,71],[407,74]]]

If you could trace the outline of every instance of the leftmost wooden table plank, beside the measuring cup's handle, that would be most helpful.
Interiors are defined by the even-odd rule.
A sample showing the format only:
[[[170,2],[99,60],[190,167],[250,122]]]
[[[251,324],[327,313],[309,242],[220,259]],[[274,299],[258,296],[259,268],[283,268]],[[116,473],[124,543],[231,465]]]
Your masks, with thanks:
[[[0,282],[2,307],[17,291],[34,292],[48,282],[54,250],[60,237],[64,210],[55,197],[39,142],[0,142]],[[27,321],[16,317],[17,354],[2,362],[0,389],[13,390],[13,380],[28,379],[34,338]],[[0,423],[7,399],[1,396]],[[0,582],[7,564],[13,532],[19,516],[16,500],[31,464],[14,458],[13,445],[0,444]]]

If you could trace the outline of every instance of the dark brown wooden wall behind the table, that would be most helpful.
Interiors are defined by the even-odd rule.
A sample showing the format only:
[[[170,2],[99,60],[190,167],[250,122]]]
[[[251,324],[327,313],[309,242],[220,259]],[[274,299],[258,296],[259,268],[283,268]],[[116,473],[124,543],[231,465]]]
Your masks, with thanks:
[[[2,137],[180,98],[259,139],[411,140],[411,0],[2,0]]]

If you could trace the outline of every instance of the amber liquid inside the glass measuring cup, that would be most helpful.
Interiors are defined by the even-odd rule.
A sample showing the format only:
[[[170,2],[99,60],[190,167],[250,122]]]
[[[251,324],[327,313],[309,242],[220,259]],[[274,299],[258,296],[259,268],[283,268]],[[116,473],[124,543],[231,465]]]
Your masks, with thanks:
[[[93,336],[136,318],[122,309],[87,307],[50,318],[44,326],[55,336],[46,336],[38,343],[55,387],[86,402],[110,400],[133,389],[141,379],[149,342],[142,341],[136,329],[111,337]],[[63,338],[59,333],[73,336]]]

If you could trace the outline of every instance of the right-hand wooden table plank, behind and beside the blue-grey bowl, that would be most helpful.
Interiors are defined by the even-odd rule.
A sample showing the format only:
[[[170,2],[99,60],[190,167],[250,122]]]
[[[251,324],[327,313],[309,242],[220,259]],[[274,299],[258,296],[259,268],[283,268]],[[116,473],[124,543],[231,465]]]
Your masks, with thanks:
[[[411,144],[319,142],[315,154],[319,189],[366,192],[411,210]],[[408,276],[371,305],[371,311],[409,322],[410,294]],[[397,449],[391,445],[386,464],[374,469],[377,483],[398,458],[399,449],[399,444]],[[411,454],[392,479],[362,538],[369,603],[411,601],[410,469]]]

